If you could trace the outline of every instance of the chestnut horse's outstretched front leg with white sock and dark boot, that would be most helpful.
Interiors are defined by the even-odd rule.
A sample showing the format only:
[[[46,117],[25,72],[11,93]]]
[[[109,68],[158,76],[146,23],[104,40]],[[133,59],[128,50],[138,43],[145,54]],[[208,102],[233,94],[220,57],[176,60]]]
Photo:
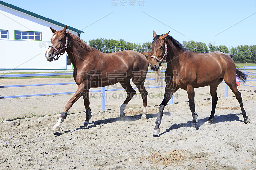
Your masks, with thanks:
[[[57,123],[52,127],[53,131],[59,131],[60,130],[60,123],[64,122],[64,119],[67,117],[68,115],[68,110],[70,109],[70,107],[73,106],[73,104],[81,97],[81,93],[84,91],[84,85],[80,84],[78,85],[78,89],[76,90],[76,93],[74,94],[74,96],[68,101],[68,103],[65,106],[64,111],[62,112],[62,114],[60,115],[60,117],[58,118]]]

